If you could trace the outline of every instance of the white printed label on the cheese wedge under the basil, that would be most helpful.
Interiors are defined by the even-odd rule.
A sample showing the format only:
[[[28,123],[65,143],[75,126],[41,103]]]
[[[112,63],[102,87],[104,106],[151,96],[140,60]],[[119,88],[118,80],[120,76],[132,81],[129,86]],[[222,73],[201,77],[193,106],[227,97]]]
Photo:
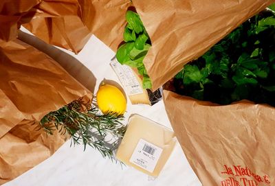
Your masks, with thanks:
[[[116,75],[118,75],[118,79],[124,86],[127,95],[135,95],[143,93],[143,89],[140,86],[137,78],[135,78],[135,74],[132,71],[131,67],[127,65],[121,65],[116,58],[113,58],[110,63],[113,71],[115,71]]]

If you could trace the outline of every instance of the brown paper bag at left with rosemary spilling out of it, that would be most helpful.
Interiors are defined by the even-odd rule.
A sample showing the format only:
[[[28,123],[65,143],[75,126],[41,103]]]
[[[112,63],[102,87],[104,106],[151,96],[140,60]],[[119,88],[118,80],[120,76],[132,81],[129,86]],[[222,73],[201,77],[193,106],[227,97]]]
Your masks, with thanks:
[[[0,40],[0,185],[50,157],[65,137],[38,121],[91,94],[57,62],[21,40]]]

